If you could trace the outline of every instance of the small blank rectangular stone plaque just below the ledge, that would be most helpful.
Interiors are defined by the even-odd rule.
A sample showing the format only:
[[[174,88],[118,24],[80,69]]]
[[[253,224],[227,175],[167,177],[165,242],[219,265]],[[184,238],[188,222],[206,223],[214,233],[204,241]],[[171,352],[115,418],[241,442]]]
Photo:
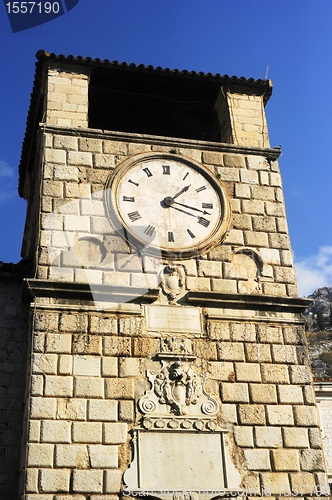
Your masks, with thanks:
[[[146,305],[145,321],[147,330],[151,332],[190,333],[196,336],[203,333],[201,311],[197,307]]]

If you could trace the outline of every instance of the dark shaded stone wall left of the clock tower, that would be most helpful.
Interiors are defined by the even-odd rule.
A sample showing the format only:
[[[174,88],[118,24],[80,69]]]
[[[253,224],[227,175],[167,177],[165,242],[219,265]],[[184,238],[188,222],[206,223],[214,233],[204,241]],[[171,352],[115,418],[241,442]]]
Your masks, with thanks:
[[[7,273],[9,274],[9,273]],[[22,279],[0,276],[0,497],[17,500],[28,332]]]

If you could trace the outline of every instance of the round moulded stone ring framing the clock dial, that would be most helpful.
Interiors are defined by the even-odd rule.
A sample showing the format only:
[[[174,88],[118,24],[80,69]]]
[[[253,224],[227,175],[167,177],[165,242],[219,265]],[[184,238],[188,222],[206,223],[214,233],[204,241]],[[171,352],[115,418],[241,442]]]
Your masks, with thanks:
[[[130,225],[124,220],[121,215],[121,210],[119,209],[118,200],[118,189],[119,184],[124,177],[124,175],[131,170],[133,167],[144,163],[146,161],[176,161],[182,163],[184,166],[196,170],[200,173],[209,184],[213,187],[216,192],[221,207],[221,216],[217,224],[215,224],[212,231],[208,234],[206,238],[201,240],[198,244],[193,244],[190,247],[183,249],[173,249],[169,247],[163,247],[154,245],[153,242],[147,243],[147,241],[141,240],[137,234],[135,234],[131,229]],[[216,176],[202,163],[199,163],[192,158],[185,155],[172,154],[167,152],[146,152],[139,153],[127,158],[121,162],[109,175],[105,184],[105,201],[107,207],[107,215],[109,222],[113,229],[115,229],[119,235],[127,242],[127,244],[137,247],[139,249],[144,249],[144,253],[149,255],[160,255],[172,260],[189,259],[193,256],[198,256],[203,253],[210,251],[214,246],[221,243],[225,238],[227,230],[230,225],[231,219],[231,209],[226,190],[222,182],[216,178]]]

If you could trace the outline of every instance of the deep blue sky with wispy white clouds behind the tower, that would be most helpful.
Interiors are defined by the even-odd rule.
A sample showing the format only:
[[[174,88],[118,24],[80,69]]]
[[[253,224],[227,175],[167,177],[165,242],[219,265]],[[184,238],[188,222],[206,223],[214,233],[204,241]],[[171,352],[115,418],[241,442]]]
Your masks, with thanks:
[[[272,79],[266,107],[300,295],[332,285],[332,3],[330,0],[80,0],[64,16],[12,33],[0,6],[0,260],[17,262],[17,194],[35,53]]]

